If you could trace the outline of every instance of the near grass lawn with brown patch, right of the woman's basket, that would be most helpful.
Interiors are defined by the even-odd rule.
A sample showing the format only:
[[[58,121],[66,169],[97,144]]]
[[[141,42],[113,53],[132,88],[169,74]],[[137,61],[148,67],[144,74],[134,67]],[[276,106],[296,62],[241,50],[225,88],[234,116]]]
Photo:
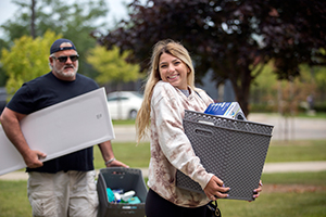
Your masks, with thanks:
[[[218,200],[227,217],[325,217],[326,171],[263,174],[263,192],[254,202]]]

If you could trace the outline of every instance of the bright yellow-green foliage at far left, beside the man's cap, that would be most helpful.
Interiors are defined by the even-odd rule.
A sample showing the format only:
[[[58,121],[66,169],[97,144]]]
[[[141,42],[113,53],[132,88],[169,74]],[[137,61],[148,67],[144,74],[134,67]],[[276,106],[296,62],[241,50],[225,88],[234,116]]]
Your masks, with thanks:
[[[2,50],[0,61],[9,76],[7,81],[8,94],[13,94],[23,82],[50,71],[48,65],[49,50],[52,42],[58,38],[60,36],[52,31],[47,31],[43,37],[36,39],[23,36],[14,40],[10,50]]]

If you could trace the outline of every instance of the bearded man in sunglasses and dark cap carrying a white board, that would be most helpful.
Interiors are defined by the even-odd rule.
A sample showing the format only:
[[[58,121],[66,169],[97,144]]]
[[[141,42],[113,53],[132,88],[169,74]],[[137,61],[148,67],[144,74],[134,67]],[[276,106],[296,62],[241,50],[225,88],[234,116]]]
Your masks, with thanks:
[[[99,88],[92,79],[77,74],[78,53],[71,40],[53,42],[49,65],[50,73],[17,90],[0,122],[27,166],[27,193],[34,216],[97,216],[92,148],[42,163],[40,158],[46,154],[29,149],[20,127],[20,122],[33,112]],[[115,159],[111,141],[99,144],[99,148],[108,167],[127,167]]]

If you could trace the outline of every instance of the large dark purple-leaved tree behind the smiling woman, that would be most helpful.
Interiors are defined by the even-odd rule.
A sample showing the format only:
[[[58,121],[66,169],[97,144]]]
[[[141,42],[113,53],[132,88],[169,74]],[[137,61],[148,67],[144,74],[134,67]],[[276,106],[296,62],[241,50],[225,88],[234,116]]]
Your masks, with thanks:
[[[246,115],[251,82],[269,60],[284,79],[298,76],[301,63],[325,64],[319,49],[326,46],[326,3],[319,0],[148,0],[145,5],[135,0],[129,8],[129,21],[98,37],[102,46],[131,50],[127,60],[142,71],[156,41],[181,41],[195,60],[197,81],[209,69],[218,84],[230,79]]]

